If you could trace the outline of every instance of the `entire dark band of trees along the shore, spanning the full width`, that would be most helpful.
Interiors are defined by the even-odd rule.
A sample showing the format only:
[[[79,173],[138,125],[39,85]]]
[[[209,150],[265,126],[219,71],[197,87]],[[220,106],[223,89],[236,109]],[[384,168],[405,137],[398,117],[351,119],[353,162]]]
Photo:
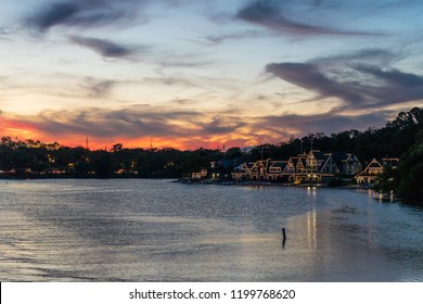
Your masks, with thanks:
[[[210,163],[219,160],[287,160],[310,150],[350,152],[357,155],[363,166],[373,159],[399,157],[398,167],[386,168],[379,176],[380,182],[374,190],[394,193],[403,201],[423,202],[423,109],[420,107],[400,112],[380,129],[351,129],[330,136],[310,134],[303,138],[292,137],[278,144],[265,143],[249,149],[200,148],[180,151],[172,148],[128,149],[116,143],[110,150],[90,150],[89,147],[70,148],[57,142],[43,143],[3,136],[0,140],[0,179],[181,179],[192,173],[207,170]],[[226,168],[227,172],[221,176],[230,176],[232,169]],[[333,181],[336,181],[336,176]],[[219,182],[225,185],[233,181],[229,177]],[[333,182],[325,186],[345,185]]]

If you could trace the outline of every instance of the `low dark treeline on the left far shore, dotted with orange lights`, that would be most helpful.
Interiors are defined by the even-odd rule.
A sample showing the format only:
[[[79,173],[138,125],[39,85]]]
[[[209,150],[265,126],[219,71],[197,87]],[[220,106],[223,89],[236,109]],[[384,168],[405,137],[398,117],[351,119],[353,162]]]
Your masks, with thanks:
[[[179,151],[127,149],[116,143],[110,151],[47,144],[10,137],[0,140],[3,177],[144,177],[179,178],[223,157],[219,150]]]

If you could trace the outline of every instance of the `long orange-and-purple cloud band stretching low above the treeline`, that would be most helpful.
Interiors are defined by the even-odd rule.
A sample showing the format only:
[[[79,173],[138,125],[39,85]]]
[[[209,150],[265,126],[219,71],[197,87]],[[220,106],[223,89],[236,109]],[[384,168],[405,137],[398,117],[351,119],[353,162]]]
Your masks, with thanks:
[[[68,138],[95,138],[110,142],[137,142],[142,138],[176,140],[178,147],[210,147],[217,142],[254,145],[264,142],[280,142],[290,136],[310,132],[331,135],[348,129],[382,127],[394,113],[379,111],[354,115],[338,110],[323,114],[275,114],[243,116],[240,113],[204,113],[151,105],[131,105],[112,110],[86,107],[73,111],[44,111],[39,115],[7,114],[4,129],[24,126],[37,137],[63,141]],[[61,138],[63,140],[61,140]],[[37,138],[38,139],[38,138]],[[62,142],[63,143],[63,142]],[[66,144],[66,143],[65,143]],[[229,147],[229,145],[228,145]]]

